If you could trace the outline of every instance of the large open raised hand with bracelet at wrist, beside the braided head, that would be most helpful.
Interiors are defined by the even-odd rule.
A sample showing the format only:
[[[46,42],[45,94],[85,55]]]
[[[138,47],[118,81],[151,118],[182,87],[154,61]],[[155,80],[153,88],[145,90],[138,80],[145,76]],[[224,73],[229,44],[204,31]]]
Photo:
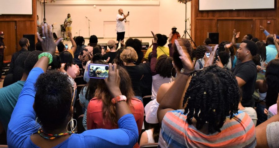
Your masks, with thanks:
[[[185,70],[190,72],[193,70],[193,62],[191,61],[191,59],[188,59],[188,57],[186,56],[186,54],[184,53],[182,47],[179,45],[178,41],[175,40],[175,46],[177,48],[177,51],[180,55],[180,59],[184,68],[184,72]],[[187,50],[186,50],[187,51]]]

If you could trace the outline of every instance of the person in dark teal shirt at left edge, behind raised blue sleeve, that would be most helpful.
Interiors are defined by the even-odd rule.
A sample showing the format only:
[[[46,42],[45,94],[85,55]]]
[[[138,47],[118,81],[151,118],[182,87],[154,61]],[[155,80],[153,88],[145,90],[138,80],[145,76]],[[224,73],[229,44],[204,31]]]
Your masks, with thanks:
[[[21,53],[16,60],[22,62],[23,65],[15,67],[15,73],[13,75],[21,75],[21,79],[7,87],[0,89],[0,122],[2,123],[5,132],[7,133],[8,123],[11,119],[11,114],[15,108],[20,92],[28,77],[29,72],[32,70],[36,62],[38,61],[38,55],[42,51],[32,51]],[[25,62],[26,61],[26,62]],[[19,67],[23,70],[23,74],[18,74]],[[21,70],[19,70],[21,71]]]

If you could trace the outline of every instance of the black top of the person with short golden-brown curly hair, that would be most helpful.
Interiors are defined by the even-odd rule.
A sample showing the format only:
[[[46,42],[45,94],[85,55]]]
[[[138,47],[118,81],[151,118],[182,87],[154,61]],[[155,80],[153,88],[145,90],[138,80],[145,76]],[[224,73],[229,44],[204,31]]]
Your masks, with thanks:
[[[142,66],[123,66],[128,74],[130,75],[132,81],[132,87],[135,92],[135,96],[141,96],[139,81],[144,74]]]

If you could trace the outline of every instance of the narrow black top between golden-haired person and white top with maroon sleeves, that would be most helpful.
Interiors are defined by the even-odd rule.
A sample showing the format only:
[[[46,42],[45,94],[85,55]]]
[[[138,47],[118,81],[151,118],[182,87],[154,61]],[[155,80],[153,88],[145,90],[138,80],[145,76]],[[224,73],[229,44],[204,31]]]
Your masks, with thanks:
[[[150,69],[150,63],[140,63],[140,66],[143,67],[144,77],[140,80],[140,91],[142,93],[142,97],[145,95],[151,95],[152,90],[152,74]]]

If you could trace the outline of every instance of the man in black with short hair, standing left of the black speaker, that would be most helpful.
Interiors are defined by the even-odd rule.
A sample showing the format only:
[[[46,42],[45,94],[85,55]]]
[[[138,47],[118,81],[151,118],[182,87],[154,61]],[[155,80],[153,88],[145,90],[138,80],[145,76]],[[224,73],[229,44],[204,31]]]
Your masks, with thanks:
[[[14,53],[12,55],[12,58],[11,58],[11,64],[10,64],[10,69],[9,69],[9,74],[13,74],[14,73],[14,68],[15,68],[15,60],[17,58],[17,56],[20,55],[20,53],[23,53],[23,52],[29,52],[28,49],[30,48],[30,43],[29,43],[29,40],[25,37],[21,38],[20,41],[19,41],[19,44],[20,44],[20,51]]]

